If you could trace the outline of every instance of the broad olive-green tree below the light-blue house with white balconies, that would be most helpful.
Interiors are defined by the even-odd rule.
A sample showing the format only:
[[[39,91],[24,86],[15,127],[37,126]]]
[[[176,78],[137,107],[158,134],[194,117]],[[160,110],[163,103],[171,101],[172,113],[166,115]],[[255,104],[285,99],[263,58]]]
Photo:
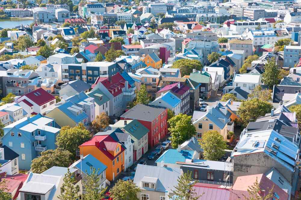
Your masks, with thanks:
[[[42,173],[53,166],[68,167],[72,163],[72,154],[67,150],[57,148],[41,152],[40,157],[33,159],[31,171],[33,173]]]

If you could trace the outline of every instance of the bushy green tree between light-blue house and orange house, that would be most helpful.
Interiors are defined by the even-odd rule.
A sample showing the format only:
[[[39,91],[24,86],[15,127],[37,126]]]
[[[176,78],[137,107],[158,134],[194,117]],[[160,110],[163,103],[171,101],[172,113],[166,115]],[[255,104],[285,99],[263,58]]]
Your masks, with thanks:
[[[90,139],[90,132],[82,123],[79,123],[78,126],[73,128],[63,126],[60,133],[57,135],[55,144],[63,150],[68,150],[72,153],[72,159],[75,159],[78,146]]]

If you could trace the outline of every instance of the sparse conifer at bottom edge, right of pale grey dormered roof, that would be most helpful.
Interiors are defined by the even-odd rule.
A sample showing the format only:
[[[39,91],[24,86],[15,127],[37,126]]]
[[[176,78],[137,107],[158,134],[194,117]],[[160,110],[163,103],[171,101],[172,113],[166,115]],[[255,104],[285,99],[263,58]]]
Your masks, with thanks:
[[[181,176],[178,177],[178,184],[175,186],[175,190],[172,190],[172,193],[174,193],[176,197],[169,197],[173,200],[197,200],[202,197],[202,195],[197,195],[197,192],[195,192],[193,188],[194,184],[191,184],[192,181],[191,171],[181,174]]]

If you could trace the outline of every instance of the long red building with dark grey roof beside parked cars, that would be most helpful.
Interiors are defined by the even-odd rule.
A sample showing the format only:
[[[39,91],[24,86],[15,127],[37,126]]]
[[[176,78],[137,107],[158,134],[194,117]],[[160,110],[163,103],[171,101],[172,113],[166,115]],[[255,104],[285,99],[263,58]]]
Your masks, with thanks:
[[[167,134],[167,108],[137,104],[120,116],[121,120],[138,120],[148,130],[148,148]]]

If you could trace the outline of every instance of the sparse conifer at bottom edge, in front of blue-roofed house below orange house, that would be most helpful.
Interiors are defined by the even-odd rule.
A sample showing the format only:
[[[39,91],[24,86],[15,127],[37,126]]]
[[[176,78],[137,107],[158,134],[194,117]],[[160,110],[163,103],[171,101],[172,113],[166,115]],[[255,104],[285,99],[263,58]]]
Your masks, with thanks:
[[[90,167],[90,173],[87,172],[87,177],[82,182],[83,188],[85,188],[85,194],[83,195],[84,200],[91,200],[91,199],[102,199],[104,198],[104,192],[107,188],[100,190],[100,176],[98,174],[98,170],[93,167]]]

